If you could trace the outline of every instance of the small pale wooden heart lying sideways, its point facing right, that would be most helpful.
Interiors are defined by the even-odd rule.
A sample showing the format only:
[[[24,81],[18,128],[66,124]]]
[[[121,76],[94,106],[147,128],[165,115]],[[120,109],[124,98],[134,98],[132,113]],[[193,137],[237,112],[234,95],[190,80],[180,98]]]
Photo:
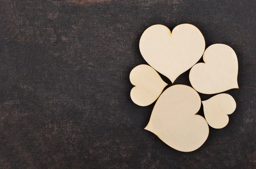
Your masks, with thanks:
[[[167,85],[160,75],[148,65],[139,65],[130,73],[131,100],[139,106],[148,106],[153,103]]]

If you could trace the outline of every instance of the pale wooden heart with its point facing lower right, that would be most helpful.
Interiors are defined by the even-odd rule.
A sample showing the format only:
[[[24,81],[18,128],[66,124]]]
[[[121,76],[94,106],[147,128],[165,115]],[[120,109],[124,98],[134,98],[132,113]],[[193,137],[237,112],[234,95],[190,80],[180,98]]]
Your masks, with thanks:
[[[237,88],[238,61],[234,50],[224,44],[209,46],[203,56],[205,63],[198,63],[189,72],[195,90],[215,94]]]

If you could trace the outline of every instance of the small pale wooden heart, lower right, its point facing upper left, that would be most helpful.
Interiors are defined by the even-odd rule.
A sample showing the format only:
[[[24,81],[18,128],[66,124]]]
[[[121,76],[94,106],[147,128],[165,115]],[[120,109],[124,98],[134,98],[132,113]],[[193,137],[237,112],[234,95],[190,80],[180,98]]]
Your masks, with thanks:
[[[227,126],[229,120],[227,115],[232,114],[236,109],[236,101],[226,93],[215,95],[202,103],[205,119],[215,129]]]

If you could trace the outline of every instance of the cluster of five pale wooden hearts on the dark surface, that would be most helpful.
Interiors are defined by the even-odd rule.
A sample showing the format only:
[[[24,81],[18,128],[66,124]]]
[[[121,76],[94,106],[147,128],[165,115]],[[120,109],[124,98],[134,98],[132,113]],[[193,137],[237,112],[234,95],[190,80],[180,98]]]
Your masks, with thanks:
[[[145,129],[182,152],[202,146],[209,135],[208,124],[223,128],[229,121],[227,115],[236,109],[236,101],[225,93],[201,101],[198,92],[216,94],[238,88],[238,61],[233,49],[224,44],[204,49],[204,36],[191,24],[178,25],[172,32],[163,25],[151,26],[140,38],[140,52],[150,66],[139,65],[130,74],[134,103],[148,106],[159,97]],[[202,55],[204,63],[197,63]],[[173,83],[191,67],[189,80],[194,89],[173,85],[162,93],[167,84],[156,71]],[[201,102],[206,120],[195,115]]]

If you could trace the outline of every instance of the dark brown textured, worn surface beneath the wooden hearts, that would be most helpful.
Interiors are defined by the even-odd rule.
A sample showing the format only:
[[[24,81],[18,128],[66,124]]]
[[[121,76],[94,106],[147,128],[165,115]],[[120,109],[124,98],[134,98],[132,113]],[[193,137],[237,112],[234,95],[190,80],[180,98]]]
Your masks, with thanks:
[[[239,60],[236,111],[189,153],[129,96],[140,35],[180,23]],[[255,0],[0,0],[0,169],[256,169],[255,40]]]

